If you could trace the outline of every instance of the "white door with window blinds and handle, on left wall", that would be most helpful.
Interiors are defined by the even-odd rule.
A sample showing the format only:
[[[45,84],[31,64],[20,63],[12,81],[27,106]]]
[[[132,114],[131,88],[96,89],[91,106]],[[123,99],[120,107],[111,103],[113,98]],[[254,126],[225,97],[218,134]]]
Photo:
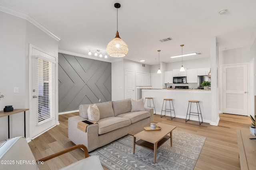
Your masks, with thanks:
[[[30,137],[56,125],[56,58],[30,48]]]

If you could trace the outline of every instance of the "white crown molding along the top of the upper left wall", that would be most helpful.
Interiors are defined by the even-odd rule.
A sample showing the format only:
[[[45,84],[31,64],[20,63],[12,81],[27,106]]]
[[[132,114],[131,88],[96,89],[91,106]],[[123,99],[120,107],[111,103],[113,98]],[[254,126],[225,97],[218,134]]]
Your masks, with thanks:
[[[10,15],[13,15],[13,16],[16,16],[16,17],[19,17],[19,18],[22,18],[22,19],[25,19],[25,20],[29,21],[30,23],[32,23],[33,25],[35,25],[36,27],[38,27],[39,29],[41,29],[42,31],[44,31],[45,33],[47,33],[48,35],[50,35],[52,38],[56,39],[57,41],[60,41],[60,37],[54,35],[54,33],[52,33],[50,30],[48,30],[46,27],[44,27],[42,24],[40,24],[34,18],[29,16],[29,14],[18,11],[18,10],[14,10],[13,8],[10,8],[3,4],[0,4],[0,11],[5,12]]]

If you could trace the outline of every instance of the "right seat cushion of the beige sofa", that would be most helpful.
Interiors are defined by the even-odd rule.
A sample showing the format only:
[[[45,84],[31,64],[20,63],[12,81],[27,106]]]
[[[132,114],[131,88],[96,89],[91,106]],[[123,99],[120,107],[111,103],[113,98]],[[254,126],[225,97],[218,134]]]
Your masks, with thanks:
[[[150,117],[150,112],[148,111],[131,111],[129,113],[123,113],[118,115],[117,117],[124,117],[131,120],[131,123],[135,123],[142,119],[146,119]]]

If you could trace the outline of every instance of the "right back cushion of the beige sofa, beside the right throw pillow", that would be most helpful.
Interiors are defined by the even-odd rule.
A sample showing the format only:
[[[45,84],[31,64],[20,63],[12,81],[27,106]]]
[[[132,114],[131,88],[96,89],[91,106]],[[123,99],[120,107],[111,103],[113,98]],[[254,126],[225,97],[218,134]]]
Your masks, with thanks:
[[[132,109],[131,99],[112,101],[115,116],[130,112]]]

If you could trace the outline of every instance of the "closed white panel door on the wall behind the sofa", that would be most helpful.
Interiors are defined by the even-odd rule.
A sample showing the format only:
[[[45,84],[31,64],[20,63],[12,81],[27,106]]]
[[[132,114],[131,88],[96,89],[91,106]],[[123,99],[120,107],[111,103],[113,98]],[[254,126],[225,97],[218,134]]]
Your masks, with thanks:
[[[134,71],[125,70],[125,98],[132,98],[135,100],[134,94],[135,82]]]

